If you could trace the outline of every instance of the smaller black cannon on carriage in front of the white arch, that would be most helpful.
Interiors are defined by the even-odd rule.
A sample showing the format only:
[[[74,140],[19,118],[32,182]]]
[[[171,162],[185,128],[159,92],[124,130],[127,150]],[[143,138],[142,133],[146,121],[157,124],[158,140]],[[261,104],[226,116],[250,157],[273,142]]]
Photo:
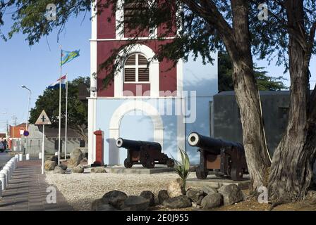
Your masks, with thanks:
[[[152,169],[156,164],[174,167],[174,160],[162,153],[162,146],[159,143],[117,139],[116,146],[128,150],[127,158],[124,161],[126,168],[142,165],[142,167]]]

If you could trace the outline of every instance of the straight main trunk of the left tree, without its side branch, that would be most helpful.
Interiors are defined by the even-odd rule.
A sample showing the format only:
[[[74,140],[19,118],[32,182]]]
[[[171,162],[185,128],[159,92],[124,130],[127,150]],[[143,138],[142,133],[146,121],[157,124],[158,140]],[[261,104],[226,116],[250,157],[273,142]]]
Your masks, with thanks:
[[[253,72],[253,56],[248,27],[248,4],[243,0],[231,1],[233,32],[236,49],[229,46],[233,62],[233,85],[241,111],[243,145],[250,173],[250,191],[267,186],[270,160],[265,141],[260,98]]]

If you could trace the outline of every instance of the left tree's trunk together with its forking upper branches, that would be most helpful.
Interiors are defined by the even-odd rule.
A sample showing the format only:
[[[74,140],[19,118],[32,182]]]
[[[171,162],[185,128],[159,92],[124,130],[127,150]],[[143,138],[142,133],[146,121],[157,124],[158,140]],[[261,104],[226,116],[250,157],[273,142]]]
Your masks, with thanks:
[[[257,191],[260,186],[267,186],[270,160],[253,72],[248,1],[231,0],[233,27],[226,22],[214,1],[200,1],[201,6],[190,0],[183,0],[183,3],[217,30],[233,63],[234,89],[241,110],[243,144],[251,179],[250,191]]]

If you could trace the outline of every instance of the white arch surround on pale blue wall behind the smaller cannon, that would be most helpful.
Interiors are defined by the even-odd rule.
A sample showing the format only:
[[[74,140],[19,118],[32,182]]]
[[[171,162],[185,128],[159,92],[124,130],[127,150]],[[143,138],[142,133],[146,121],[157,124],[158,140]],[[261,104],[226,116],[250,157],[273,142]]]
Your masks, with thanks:
[[[164,149],[164,124],[157,109],[144,101],[128,101],[117,108],[111,117],[109,127],[109,165],[119,165],[119,162],[122,161],[119,157],[119,148],[116,147],[116,139],[120,137],[120,127],[123,117],[134,110],[141,111],[147,117],[150,117],[153,126],[153,141],[160,143],[162,149]],[[131,124],[130,129],[135,129],[135,127],[132,127]],[[122,158],[124,157],[123,153]]]

